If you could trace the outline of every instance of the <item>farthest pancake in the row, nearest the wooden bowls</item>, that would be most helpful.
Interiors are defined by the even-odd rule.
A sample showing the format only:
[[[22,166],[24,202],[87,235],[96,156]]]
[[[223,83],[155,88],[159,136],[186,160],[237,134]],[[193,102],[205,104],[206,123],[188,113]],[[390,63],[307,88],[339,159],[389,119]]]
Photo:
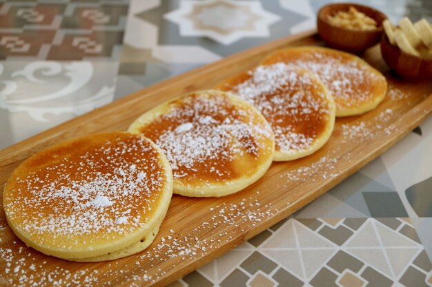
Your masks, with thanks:
[[[324,47],[291,47],[268,55],[262,65],[289,63],[315,72],[333,96],[336,116],[371,111],[384,100],[386,78],[353,54]]]

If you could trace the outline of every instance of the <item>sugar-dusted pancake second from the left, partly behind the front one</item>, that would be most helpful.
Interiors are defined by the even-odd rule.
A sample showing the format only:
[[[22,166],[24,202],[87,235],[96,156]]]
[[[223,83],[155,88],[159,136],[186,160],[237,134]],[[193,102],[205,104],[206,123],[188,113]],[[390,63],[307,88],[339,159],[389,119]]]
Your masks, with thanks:
[[[170,100],[128,131],[153,140],[173,169],[174,193],[224,196],[264,175],[275,138],[264,117],[232,94],[208,90]]]

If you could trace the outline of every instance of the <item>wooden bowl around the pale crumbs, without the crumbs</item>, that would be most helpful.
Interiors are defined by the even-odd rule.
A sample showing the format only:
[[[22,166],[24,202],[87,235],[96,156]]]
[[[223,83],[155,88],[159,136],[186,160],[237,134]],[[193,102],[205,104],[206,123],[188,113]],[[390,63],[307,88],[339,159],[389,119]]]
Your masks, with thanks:
[[[351,30],[333,26],[328,22],[329,15],[333,15],[341,10],[348,11],[350,7],[354,7],[357,11],[374,19],[377,22],[377,28],[367,31]],[[318,33],[331,47],[348,52],[362,52],[380,42],[383,32],[382,22],[385,19],[387,19],[386,14],[368,6],[355,3],[329,4],[322,7],[320,12],[318,12]]]

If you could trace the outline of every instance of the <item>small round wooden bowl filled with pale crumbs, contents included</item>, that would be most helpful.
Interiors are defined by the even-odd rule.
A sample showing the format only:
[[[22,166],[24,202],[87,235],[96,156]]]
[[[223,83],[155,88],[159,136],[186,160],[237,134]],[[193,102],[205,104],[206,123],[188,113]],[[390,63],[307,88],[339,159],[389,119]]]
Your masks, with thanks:
[[[320,9],[317,27],[329,46],[358,53],[380,42],[385,19],[386,14],[369,6],[335,3]]]

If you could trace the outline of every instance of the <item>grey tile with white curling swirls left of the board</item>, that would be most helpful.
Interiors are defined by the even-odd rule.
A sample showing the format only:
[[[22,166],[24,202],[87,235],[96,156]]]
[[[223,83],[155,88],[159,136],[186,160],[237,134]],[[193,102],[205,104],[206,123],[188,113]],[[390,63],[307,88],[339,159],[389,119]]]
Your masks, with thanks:
[[[110,103],[117,69],[118,63],[112,61],[0,63],[0,85],[6,85],[0,91],[0,114],[7,115],[0,125],[11,128],[2,133],[1,144],[18,142]]]

